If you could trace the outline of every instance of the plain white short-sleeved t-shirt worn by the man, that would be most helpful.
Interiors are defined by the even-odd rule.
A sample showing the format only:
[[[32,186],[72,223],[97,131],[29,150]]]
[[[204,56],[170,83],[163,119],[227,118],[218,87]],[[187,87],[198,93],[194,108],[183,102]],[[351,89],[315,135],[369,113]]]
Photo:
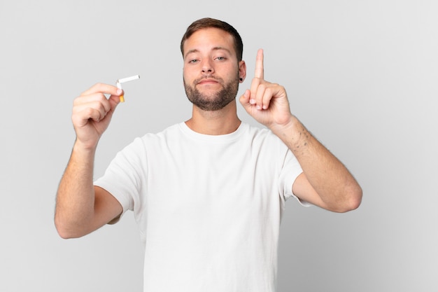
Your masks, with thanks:
[[[269,130],[210,136],[185,123],[120,151],[95,185],[133,210],[144,291],[276,291],[278,232],[302,169]]]

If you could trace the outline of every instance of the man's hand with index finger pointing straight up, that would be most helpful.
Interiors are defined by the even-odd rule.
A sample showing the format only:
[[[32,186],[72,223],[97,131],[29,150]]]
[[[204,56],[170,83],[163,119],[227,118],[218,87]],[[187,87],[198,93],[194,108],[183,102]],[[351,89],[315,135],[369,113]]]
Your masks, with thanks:
[[[288,95],[283,86],[264,80],[263,50],[257,51],[255,76],[251,87],[240,97],[240,102],[257,122],[274,127],[290,122]]]

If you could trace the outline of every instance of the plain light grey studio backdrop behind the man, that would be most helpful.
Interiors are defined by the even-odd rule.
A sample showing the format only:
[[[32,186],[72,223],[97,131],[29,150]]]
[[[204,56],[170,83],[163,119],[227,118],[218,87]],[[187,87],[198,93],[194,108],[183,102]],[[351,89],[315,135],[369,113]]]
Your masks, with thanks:
[[[347,214],[287,202],[278,291],[438,291],[437,15],[435,0],[1,1],[0,291],[142,291],[132,212],[80,239],[55,230],[71,106],[141,76],[124,84],[96,177],[134,137],[190,118],[179,42],[204,17],[243,38],[239,96],[264,48],[267,81],[364,191]]]

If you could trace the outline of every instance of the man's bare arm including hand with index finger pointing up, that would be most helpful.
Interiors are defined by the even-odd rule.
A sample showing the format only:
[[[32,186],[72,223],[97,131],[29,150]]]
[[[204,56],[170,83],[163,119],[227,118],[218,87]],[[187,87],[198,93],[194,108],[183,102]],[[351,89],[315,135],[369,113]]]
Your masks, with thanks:
[[[283,86],[264,80],[263,51],[257,52],[255,77],[240,98],[255,120],[269,127],[297,158],[303,169],[293,185],[301,200],[330,211],[356,209],[362,189],[348,169],[290,112]]]

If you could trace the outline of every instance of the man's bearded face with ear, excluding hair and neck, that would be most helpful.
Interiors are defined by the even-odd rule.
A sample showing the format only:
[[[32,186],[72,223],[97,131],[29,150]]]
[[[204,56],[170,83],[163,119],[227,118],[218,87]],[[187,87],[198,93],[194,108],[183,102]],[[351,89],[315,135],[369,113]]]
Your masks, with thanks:
[[[222,29],[200,29],[183,48],[184,88],[190,102],[204,111],[217,111],[232,102],[244,67],[237,61],[233,37]]]

